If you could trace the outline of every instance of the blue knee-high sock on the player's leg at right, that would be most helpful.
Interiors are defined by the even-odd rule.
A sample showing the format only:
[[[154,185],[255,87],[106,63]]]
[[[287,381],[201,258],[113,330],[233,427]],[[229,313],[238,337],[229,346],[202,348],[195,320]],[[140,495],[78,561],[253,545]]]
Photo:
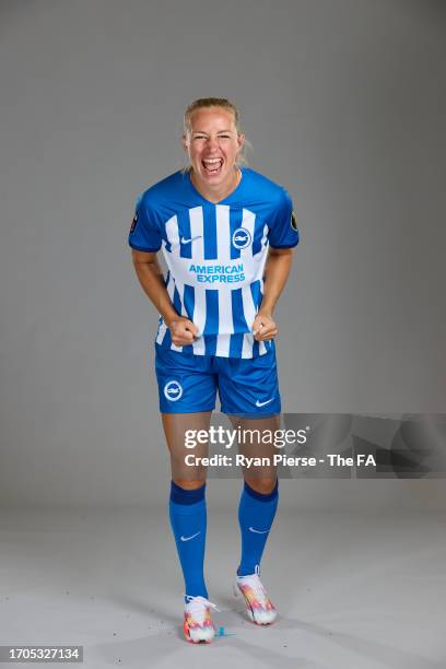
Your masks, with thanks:
[[[242,560],[238,576],[254,574],[260,565],[268,533],[275,516],[279,502],[279,480],[269,494],[258,493],[248,485],[242,492],[238,506],[238,523],[242,530]]]

